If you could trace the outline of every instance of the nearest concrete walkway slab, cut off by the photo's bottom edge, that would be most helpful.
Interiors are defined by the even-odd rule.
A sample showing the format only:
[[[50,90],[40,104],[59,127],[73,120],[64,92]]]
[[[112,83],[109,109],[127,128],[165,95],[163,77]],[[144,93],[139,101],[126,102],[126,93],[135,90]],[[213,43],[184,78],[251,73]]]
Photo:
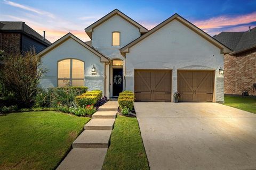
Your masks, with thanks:
[[[107,148],[75,148],[57,167],[57,170],[101,170]]]

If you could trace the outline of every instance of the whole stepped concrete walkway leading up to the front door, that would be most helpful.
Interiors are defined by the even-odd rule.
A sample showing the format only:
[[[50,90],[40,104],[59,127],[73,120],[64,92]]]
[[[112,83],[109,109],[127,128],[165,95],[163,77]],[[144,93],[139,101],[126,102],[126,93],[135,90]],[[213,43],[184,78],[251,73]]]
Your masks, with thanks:
[[[58,170],[101,169],[109,147],[111,131],[117,114],[117,101],[108,101],[92,115],[84,131],[73,142],[73,149]]]

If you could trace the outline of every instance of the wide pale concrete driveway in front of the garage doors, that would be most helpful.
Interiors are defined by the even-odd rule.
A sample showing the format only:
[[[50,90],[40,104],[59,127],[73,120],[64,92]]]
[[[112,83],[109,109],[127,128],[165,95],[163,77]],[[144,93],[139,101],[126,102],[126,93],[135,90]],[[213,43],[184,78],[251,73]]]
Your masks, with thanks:
[[[134,103],[153,169],[256,169],[256,114],[214,103]]]

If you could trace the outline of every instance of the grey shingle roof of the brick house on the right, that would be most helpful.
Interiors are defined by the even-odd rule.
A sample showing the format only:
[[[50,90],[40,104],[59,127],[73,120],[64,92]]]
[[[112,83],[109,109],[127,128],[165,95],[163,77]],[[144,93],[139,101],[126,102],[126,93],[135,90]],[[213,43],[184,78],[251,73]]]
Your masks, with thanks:
[[[256,46],[256,27],[246,32],[221,32],[213,38],[232,49],[233,53],[241,52]]]

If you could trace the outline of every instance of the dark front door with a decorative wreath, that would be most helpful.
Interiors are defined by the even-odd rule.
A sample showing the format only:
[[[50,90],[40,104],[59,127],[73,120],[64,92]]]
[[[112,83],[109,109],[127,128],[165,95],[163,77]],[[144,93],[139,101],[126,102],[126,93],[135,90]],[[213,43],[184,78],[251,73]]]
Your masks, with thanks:
[[[113,96],[123,91],[123,69],[113,69]]]

